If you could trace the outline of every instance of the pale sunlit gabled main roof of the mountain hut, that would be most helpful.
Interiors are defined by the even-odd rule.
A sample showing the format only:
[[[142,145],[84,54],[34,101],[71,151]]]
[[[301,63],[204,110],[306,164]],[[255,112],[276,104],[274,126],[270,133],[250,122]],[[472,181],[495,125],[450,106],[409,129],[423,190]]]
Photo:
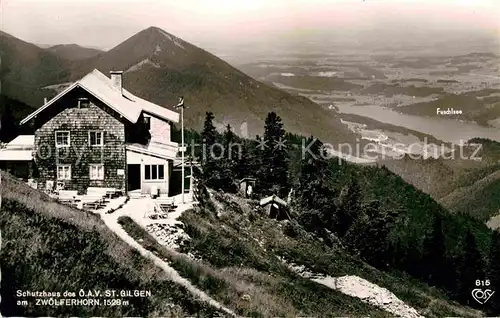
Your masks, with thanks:
[[[101,100],[110,108],[114,109],[116,112],[118,112],[120,115],[122,115],[132,123],[137,122],[142,112],[149,113],[153,116],[174,123],[179,122],[179,113],[148,102],[147,100],[133,95],[124,88],[120,92],[120,90],[116,89],[113,86],[113,83],[111,82],[111,79],[109,77],[95,69],[89,74],[85,75],[81,80],[73,83],[71,86],[59,93],[45,105],[24,118],[21,121],[21,125],[30,121],[44,109],[48,108],[66,93],[78,86],[94,95],[96,98]]]

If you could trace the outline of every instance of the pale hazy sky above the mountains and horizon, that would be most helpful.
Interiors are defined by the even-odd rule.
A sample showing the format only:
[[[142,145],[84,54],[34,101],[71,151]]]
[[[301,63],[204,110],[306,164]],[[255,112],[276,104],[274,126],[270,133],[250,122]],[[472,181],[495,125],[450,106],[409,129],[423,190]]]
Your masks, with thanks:
[[[2,31],[37,44],[110,49],[149,26],[194,44],[373,29],[497,36],[500,0],[0,0]]]

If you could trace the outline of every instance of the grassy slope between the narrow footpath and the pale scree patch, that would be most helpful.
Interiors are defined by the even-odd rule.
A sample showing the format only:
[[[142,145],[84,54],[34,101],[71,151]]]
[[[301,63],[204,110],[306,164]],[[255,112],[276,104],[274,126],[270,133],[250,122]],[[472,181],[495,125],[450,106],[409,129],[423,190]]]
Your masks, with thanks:
[[[228,210],[229,211],[229,210]],[[187,212],[187,217],[199,216],[199,212]],[[234,211],[230,211],[232,213]],[[203,214],[202,218],[209,217]],[[204,290],[224,305],[234,308],[236,313],[246,317],[297,317],[313,316],[361,316],[389,317],[387,313],[362,303],[322,285],[299,277],[272,253],[256,251],[250,237],[220,237],[216,229],[207,233],[210,246],[202,251],[192,250],[204,261],[195,261],[185,255],[172,252],[152,238],[130,218],[121,218],[124,229],[141,244],[170,261],[183,277]],[[201,221],[201,220],[198,220]],[[206,220],[203,222],[203,224]],[[241,236],[241,238],[240,238]],[[218,240],[226,244],[223,250]],[[187,247],[185,247],[187,248]],[[200,255],[201,253],[201,255]],[[209,254],[211,258],[205,256]],[[222,261],[223,260],[223,261]],[[211,263],[213,261],[213,263]],[[244,295],[250,298],[245,300]],[[321,295],[321,297],[318,297]]]

